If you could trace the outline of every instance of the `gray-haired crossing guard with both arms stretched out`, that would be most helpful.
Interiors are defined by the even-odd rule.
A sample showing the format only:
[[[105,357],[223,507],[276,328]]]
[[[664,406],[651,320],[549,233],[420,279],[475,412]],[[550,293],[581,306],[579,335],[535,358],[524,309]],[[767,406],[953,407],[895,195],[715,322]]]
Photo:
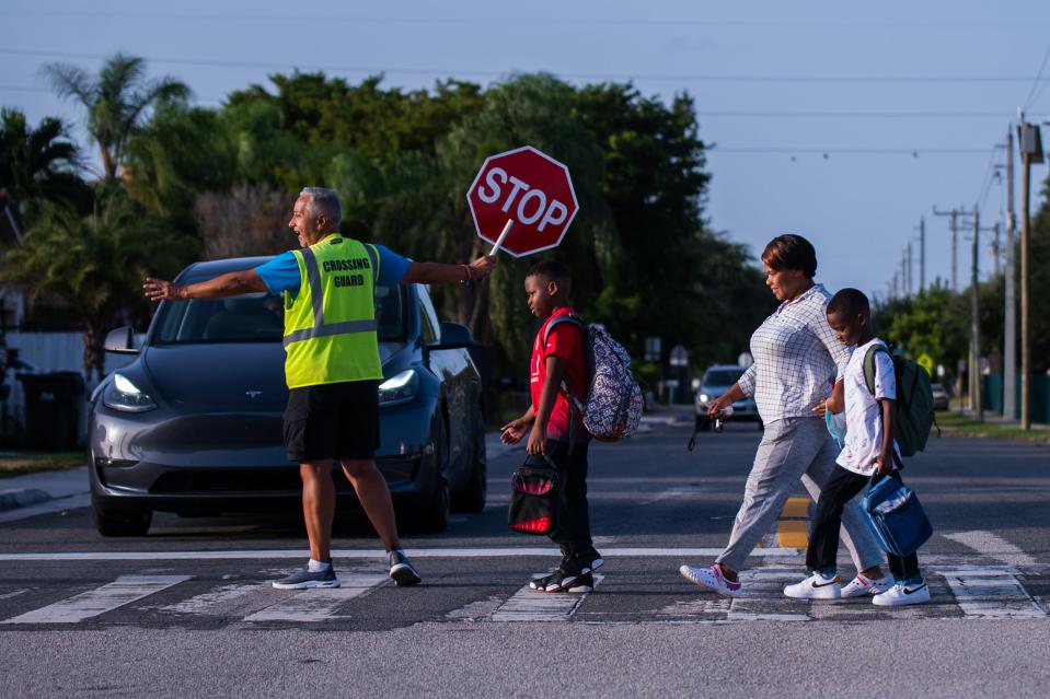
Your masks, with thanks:
[[[339,586],[331,552],[333,459],[342,464],[386,547],[390,576],[399,585],[420,582],[401,547],[390,490],[374,462],[382,369],[373,290],[376,284],[484,279],[496,264],[494,257],[480,257],[470,265],[414,263],[382,245],[343,237],[338,232],[341,218],[334,191],[307,187],[288,222],[299,236],[301,249],[278,255],[255,269],[186,287],[152,278],[145,284],[146,295],[152,301],[261,291],[285,296],[285,376],[289,386],[285,445],[289,459],[299,462],[310,560],[302,570],[274,582],[281,590]],[[347,265],[354,267],[353,284],[341,283]],[[323,321],[315,313],[321,307]]]

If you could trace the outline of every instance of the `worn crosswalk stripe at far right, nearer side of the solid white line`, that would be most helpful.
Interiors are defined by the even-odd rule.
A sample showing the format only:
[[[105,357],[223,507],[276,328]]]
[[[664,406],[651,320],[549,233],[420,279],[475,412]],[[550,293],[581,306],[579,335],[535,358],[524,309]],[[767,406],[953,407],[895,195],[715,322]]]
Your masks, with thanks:
[[[1043,619],[1047,611],[1031,598],[1013,571],[990,568],[938,570],[962,613],[983,619]]]

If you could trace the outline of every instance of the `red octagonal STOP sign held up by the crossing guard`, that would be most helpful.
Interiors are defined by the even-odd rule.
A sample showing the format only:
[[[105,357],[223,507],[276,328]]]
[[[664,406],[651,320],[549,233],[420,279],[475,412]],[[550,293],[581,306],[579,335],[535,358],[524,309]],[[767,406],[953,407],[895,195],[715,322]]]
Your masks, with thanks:
[[[489,255],[515,257],[556,247],[579,210],[568,167],[531,145],[486,158],[466,202]]]

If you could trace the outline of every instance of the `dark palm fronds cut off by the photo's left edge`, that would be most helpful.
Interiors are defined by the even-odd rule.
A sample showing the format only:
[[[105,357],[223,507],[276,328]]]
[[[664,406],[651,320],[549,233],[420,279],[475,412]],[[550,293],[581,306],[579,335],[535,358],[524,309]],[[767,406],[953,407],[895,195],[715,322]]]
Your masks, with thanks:
[[[0,187],[11,199],[79,199],[86,193],[79,168],[77,144],[60,119],[46,117],[34,129],[22,112],[0,109]]]

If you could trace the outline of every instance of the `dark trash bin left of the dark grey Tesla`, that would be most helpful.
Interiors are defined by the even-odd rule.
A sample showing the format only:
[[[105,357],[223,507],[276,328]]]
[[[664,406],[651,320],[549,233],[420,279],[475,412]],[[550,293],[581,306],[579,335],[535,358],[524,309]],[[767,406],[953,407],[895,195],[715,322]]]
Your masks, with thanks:
[[[20,374],[25,395],[25,445],[73,450],[84,407],[84,377],[74,371]]]

